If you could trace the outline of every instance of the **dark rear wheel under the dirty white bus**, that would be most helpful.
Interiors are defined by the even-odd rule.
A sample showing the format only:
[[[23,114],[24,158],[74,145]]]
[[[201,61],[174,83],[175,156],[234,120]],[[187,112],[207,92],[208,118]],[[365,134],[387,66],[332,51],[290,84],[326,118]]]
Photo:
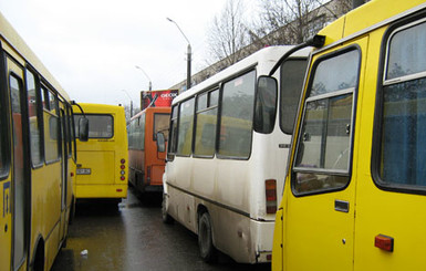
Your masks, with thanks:
[[[198,248],[200,256],[205,262],[216,261],[216,248],[212,244],[210,216],[206,211],[198,221]]]

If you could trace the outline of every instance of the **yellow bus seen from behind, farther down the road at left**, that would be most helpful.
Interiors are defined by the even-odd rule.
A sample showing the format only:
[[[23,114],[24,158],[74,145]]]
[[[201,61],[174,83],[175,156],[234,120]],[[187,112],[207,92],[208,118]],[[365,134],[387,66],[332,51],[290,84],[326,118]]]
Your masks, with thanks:
[[[74,183],[76,199],[127,197],[127,132],[124,107],[80,104],[89,119],[89,140],[76,140],[77,165]],[[74,122],[83,117],[74,107]],[[79,131],[76,129],[79,135]]]

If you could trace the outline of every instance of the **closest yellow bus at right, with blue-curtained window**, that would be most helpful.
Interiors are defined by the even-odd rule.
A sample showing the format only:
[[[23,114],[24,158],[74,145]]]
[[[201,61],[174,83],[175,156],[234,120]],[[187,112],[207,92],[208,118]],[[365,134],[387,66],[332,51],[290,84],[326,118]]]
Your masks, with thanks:
[[[426,270],[426,3],[373,0],[319,34],[272,270]]]

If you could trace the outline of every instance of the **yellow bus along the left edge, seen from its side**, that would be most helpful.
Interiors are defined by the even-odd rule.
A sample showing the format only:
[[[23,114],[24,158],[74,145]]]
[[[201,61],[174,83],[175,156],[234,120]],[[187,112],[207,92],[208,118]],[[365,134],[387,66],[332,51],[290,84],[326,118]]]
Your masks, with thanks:
[[[0,50],[0,270],[49,270],[74,202],[71,101],[1,14]]]

